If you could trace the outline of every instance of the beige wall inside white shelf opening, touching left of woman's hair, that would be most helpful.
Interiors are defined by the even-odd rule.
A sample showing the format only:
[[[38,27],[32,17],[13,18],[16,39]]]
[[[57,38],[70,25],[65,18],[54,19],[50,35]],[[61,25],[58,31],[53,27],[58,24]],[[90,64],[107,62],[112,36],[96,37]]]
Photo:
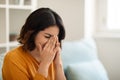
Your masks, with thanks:
[[[29,14],[30,10],[10,10],[10,34],[19,34]]]

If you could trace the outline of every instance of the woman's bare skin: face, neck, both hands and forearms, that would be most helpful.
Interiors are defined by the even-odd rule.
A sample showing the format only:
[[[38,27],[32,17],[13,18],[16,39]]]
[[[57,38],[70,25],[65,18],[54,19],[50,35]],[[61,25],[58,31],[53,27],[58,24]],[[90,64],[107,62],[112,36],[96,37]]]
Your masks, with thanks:
[[[36,48],[30,51],[31,55],[40,62],[38,73],[47,77],[52,62],[55,64],[55,80],[66,80],[60,56],[60,43],[58,41],[59,29],[50,26],[40,31],[35,38]]]

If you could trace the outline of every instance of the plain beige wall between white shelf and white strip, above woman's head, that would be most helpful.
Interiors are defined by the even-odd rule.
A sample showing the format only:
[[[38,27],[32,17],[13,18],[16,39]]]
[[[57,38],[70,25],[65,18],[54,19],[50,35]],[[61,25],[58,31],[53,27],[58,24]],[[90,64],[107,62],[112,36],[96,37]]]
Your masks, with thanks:
[[[84,0],[38,0],[39,7],[49,7],[62,17],[66,40],[83,37]]]

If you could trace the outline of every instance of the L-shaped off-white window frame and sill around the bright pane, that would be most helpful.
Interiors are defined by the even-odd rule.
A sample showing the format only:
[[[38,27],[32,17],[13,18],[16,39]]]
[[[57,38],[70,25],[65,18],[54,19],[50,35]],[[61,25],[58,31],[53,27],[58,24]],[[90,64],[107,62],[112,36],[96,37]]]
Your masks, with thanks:
[[[107,0],[96,0],[95,2],[95,26],[94,37],[120,38],[120,30],[107,28]]]

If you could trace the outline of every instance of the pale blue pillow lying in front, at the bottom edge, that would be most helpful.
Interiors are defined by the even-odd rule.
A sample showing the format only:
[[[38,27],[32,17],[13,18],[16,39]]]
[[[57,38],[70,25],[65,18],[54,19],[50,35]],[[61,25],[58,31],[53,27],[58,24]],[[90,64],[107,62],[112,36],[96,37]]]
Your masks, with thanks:
[[[66,70],[68,80],[109,80],[100,61],[70,64]]]

